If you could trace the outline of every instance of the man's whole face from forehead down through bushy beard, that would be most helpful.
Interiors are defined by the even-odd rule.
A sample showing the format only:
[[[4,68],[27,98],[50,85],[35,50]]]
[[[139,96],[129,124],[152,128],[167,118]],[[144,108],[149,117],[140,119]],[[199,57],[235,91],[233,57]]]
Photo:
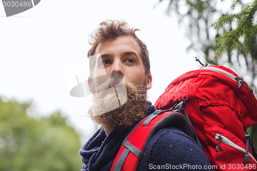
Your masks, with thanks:
[[[152,76],[145,75],[141,50],[131,36],[102,42],[92,56],[93,78],[88,78],[94,92],[90,116],[102,125],[106,134],[122,130],[140,121],[148,109],[146,90]]]

